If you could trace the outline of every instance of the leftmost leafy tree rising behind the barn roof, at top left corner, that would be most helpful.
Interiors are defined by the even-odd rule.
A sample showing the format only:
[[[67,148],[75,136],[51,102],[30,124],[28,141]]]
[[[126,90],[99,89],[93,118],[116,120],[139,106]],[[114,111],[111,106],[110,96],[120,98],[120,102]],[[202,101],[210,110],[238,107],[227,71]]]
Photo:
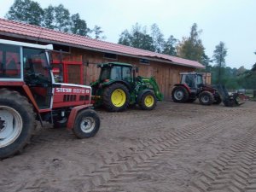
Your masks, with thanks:
[[[41,26],[43,16],[44,10],[40,7],[39,3],[31,0],[15,0],[5,18]]]

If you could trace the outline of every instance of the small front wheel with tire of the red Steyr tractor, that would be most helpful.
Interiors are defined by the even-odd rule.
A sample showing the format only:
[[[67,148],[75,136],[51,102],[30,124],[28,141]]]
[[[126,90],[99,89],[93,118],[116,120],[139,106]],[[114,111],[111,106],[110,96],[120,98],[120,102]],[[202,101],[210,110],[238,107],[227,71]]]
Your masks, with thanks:
[[[100,125],[101,120],[96,111],[84,109],[78,113],[75,119],[73,133],[81,139],[94,137],[97,131],[99,131]]]

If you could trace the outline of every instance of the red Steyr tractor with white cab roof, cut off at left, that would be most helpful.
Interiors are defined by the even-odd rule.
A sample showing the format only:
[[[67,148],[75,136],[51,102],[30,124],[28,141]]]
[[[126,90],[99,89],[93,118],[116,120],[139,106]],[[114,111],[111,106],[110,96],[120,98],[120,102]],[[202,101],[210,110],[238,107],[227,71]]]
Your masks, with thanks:
[[[67,126],[79,138],[93,137],[100,128],[90,86],[55,83],[51,49],[0,39],[0,159],[29,143],[35,120]]]

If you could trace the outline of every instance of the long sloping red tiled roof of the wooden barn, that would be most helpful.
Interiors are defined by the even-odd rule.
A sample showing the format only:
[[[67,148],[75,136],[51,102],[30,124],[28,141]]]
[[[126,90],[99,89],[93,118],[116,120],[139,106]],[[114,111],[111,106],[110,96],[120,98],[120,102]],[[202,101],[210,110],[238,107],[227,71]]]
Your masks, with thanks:
[[[148,60],[159,60],[181,66],[203,68],[198,61],[191,61],[176,56],[154,53],[152,51],[132,48],[122,44],[113,44],[84,36],[57,32],[40,26],[32,26],[13,20],[0,19],[0,34],[16,38],[26,38],[49,44],[63,44],[82,49],[93,49],[117,55],[143,57]]]

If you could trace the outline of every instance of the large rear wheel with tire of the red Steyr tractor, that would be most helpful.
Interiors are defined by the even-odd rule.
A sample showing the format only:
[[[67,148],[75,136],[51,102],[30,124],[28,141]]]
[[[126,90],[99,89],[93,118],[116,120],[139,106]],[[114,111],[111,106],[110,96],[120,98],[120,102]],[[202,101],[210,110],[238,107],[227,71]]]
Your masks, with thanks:
[[[35,115],[26,97],[17,91],[0,90],[0,159],[21,153],[30,142],[34,125]]]

